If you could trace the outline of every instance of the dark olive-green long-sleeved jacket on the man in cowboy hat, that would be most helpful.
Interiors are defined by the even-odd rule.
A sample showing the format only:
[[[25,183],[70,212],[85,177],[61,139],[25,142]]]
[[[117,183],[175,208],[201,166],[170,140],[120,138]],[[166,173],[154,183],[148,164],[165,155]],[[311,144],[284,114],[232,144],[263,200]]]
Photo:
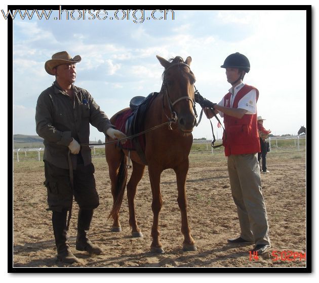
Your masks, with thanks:
[[[36,133],[44,138],[44,160],[68,169],[68,145],[74,138],[80,144],[88,144],[90,124],[106,135],[107,129],[114,128],[106,114],[96,104],[90,93],[73,86],[73,99],[54,82],[43,91],[36,103]],[[81,146],[84,165],[92,161],[91,149]],[[76,155],[71,154],[73,169],[76,169]]]

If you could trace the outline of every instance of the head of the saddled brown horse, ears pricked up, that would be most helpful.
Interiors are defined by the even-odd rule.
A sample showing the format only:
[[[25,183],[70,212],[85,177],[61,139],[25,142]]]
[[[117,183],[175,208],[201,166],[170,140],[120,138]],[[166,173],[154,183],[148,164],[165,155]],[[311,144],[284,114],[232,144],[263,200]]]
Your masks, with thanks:
[[[187,57],[185,62],[181,57],[169,61],[158,55],[156,57],[165,68],[161,92],[166,95],[171,114],[176,113],[182,132],[191,133],[196,124],[193,112],[195,76],[189,67],[191,57]]]

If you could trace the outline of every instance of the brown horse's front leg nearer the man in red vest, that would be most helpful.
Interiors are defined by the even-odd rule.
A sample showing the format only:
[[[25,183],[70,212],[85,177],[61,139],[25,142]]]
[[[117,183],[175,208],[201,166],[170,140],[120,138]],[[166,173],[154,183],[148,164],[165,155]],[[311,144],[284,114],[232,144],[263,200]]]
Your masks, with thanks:
[[[178,197],[177,202],[182,216],[181,231],[184,235],[183,251],[196,251],[195,241],[190,235],[190,228],[187,217],[187,198],[186,198],[186,176],[188,172],[188,158],[184,163],[174,168],[177,180]]]

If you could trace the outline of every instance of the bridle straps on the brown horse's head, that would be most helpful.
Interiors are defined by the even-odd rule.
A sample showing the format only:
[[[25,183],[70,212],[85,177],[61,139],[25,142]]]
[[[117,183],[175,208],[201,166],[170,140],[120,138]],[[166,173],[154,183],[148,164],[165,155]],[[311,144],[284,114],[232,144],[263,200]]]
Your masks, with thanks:
[[[185,63],[182,63],[182,62],[178,62],[178,63],[174,63],[174,64],[171,64],[169,67],[167,67],[163,73],[163,86],[162,88],[164,87],[165,89],[165,92],[164,92],[164,95],[163,95],[163,110],[164,110],[164,113],[166,115],[166,117],[168,118],[168,120],[170,120],[171,122],[173,123],[176,123],[177,122],[177,113],[176,111],[174,110],[174,105],[176,103],[178,103],[179,101],[181,100],[189,100],[192,104],[192,108],[193,108],[193,111],[194,111],[194,115],[195,117],[197,118],[197,113],[196,113],[196,107],[195,107],[195,100],[193,100],[192,98],[190,98],[189,96],[182,96],[180,98],[178,98],[177,100],[175,100],[174,102],[172,102],[171,98],[170,98],[170,95],[169,95],[169,91],[168,91],[168,86],[167,86],[167,81],[166,81],[166,77],[165,77],[165,73],[172,67],[175,67],[175,66],[178,66],[178,67],[187,67],[189,70],[190,70],[190,67],[185,64]],[[166,114],[166,111],[165,111],[165,108],[164,108],[164,98],[166,97],[167,101],[168,101],[168,104],[169,104],[169,108],[170,108],[170,114],[171,114],[171,118]],[[169,125],[170,129],[171,126]]]

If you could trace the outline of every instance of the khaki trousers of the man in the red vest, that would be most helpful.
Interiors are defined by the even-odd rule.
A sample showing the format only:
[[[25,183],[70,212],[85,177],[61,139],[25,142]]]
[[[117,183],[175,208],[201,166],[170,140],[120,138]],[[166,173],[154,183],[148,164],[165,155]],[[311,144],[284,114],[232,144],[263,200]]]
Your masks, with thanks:
[[[230,155],[227,160],[231,194],[241,226],[241,237],[256,245],[270,245],[265,201],[256,154]]]

